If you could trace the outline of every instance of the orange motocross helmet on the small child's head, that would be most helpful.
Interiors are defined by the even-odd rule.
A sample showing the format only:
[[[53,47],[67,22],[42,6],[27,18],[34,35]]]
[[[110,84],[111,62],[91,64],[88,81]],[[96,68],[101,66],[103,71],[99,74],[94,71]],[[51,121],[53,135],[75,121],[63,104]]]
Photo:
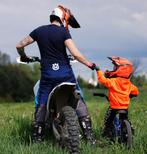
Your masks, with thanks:
[[[108,57],[114,64],[113,71],[106,71],[105,76],[107,78],[112,77],[122,77],[122,78],[130,78],[133,73],[133,64],[126,58],[122,57]]]

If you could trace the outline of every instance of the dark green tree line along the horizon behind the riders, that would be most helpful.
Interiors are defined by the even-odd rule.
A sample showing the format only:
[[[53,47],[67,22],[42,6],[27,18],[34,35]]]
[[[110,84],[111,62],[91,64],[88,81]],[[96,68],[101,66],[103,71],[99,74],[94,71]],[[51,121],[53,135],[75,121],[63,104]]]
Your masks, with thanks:
[[[11,63],[9,55],[0,52],[0,102],[33,100],[33,87],[39,78],[39,64],[14,64]],[[94,87],[80,76],[77,80],[81,88],[104,88],[101,85]],[[147,86],[147,79],[144,75],[133,75],[131,80],[137,86]]]

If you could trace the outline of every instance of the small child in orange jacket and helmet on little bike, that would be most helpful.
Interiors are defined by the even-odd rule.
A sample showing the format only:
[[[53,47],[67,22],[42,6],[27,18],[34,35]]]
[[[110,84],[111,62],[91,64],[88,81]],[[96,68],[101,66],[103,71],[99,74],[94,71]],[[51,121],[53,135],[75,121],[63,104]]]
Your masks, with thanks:
[[[103,72],[97,67],[99,83],[108,88],[108,99],[110,106],[105,115],[103,136],[112,136],[113,120],[118,110],[123,109],[128,113],[130,97],[139,94],[138,88],[130,81],[133,73],[133,64],[121,57],[108,57],[114,64],[113,71]],[[125,115],[128,118],[128,114]]]

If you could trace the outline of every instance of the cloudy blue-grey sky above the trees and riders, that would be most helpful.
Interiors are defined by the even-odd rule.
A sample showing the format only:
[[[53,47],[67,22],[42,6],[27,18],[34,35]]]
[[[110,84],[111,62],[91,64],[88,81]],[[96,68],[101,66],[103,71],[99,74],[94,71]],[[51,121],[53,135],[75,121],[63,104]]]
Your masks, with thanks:
[[[70,28],[80,52],[102,70],[111,69],[108,56],[139,60],[139,70],[147,72],[147,0],[1,0],[0,50],[15,62],[16,44],[41,25],[49,24],[53,8],[70,8],[81,25]],[[38,55],[37,44],[26,48],[28,55]],[[91,71],[73,64],[76,75],[89,79]]]

